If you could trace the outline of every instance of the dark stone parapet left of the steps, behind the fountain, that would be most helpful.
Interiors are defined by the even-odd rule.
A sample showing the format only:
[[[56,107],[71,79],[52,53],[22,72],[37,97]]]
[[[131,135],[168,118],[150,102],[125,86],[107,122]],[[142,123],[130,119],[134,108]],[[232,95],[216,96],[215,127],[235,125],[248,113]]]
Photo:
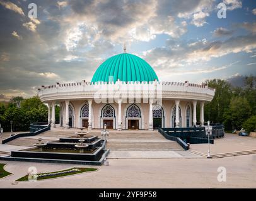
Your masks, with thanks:
[[[30,133],[18,133],[14,134],[13,136],[10,136],[9,138],[3,139],[2,144],[8,143],[9,141],[12,141],[13,139],[17,139],[20,137],[27,137],[27,136],[36,136],[37,134],[44,133],[45,131],[50,130],[50,125],[48,125],[48,122],[37,122],[30,124]]]

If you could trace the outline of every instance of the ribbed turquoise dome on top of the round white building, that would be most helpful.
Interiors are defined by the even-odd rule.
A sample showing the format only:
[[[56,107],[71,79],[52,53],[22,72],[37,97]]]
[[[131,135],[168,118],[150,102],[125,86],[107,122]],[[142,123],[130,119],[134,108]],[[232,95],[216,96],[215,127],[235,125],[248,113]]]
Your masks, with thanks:
[[[108,58],[97,68],[91,82],[149,82],[158,80],[153,68],[142,58],[122,53]]]

